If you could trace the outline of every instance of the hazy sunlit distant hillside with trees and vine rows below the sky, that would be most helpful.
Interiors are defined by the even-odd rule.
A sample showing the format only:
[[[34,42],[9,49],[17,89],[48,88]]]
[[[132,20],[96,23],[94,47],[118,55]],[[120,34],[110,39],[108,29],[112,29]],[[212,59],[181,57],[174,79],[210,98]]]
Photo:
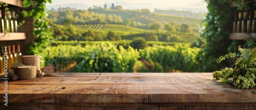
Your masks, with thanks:
[[[72,25],[116,24],[150,30],[154,28],[156,29],[156,27],[151,26],[153,24],[157,24],[158,30],[173,30],[181,32],[181,25],[185,24],[188,25],[188,28],[190,27],[190,29],[193,29],[193,31],[197,33],[198,26],[200,26],[200,23],[202,21],[199,18],[193,18],[189,16],[184,17],[179,15],[169,15],[155,12],[152,13],[147,9],[113,10],[102,8],[89,8],[88,10],[78,10],[73,8],[59,8],[58,10],[51,10],[49,12],[49,20],[52,21],[52,23],[58,25],[65,25],[63,23]],[[166,27],[166,25],[168,26]]]

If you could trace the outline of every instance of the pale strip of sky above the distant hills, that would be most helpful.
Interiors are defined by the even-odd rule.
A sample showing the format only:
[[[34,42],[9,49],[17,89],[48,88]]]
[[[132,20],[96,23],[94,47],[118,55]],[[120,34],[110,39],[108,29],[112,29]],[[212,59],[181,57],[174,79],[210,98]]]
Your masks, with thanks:
[[[184,6],[189,4],[205,4],[204,0],[52,0],[51,5],[63,5],[63,4],[86,4],[86,5],[97,5],[106,2],[116,3],[151,3],[154,5],[168,5],[170,7]]]

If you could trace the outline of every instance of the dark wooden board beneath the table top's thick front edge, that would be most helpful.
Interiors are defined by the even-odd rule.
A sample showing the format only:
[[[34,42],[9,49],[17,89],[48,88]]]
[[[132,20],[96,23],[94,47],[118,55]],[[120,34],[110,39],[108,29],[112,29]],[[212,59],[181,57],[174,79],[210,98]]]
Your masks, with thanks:
[[[255,103],[8,103],[8,107],[0,103],[0,109],[256,109]]]

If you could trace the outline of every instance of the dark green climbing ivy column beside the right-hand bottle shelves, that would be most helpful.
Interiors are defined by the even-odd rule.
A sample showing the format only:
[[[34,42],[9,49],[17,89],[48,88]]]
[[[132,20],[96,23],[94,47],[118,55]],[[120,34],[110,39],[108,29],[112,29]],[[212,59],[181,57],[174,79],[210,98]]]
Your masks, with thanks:
[[[211,72],[220,69],[221,66],[228,64],[216,64],[216,60],[221,55],[227,52],[227,48],[232,41],[228,39],[230,33],[230,17],[233,10],[230,8],[230,3],[237,3],[237,10],[247,10],[248,1],[241,0],[205,0],[208,3],[208,13],[202,22],[203,31],[198,39],[198,44],[202,51],[197,59],[200,63],[200,72]],[[256,1],[256,0],[255,0]],[[236,43],[234,41],[233,43]],[[227,66],[226,66],[227,67]]]

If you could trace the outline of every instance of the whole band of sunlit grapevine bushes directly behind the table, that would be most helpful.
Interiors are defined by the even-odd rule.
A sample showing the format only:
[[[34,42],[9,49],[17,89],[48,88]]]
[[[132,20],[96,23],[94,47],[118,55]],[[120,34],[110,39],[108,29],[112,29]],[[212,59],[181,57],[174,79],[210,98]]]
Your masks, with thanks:
[[[119,46],[117,49],[119,43],[99,42],[83,46],[59,44],[57,47],[46,48],[42,57],[46,59],[46,65],[52,64],[57,69],[60,69],[61,64],[67,66],[77,62],[69,72],[134,72],[137,61],[151,68],[150,72],[197,71],[196,55],[201,50],[199,48],[189,48],[188,45],[153,45],[138,52],[130,46],[127,49]]]

